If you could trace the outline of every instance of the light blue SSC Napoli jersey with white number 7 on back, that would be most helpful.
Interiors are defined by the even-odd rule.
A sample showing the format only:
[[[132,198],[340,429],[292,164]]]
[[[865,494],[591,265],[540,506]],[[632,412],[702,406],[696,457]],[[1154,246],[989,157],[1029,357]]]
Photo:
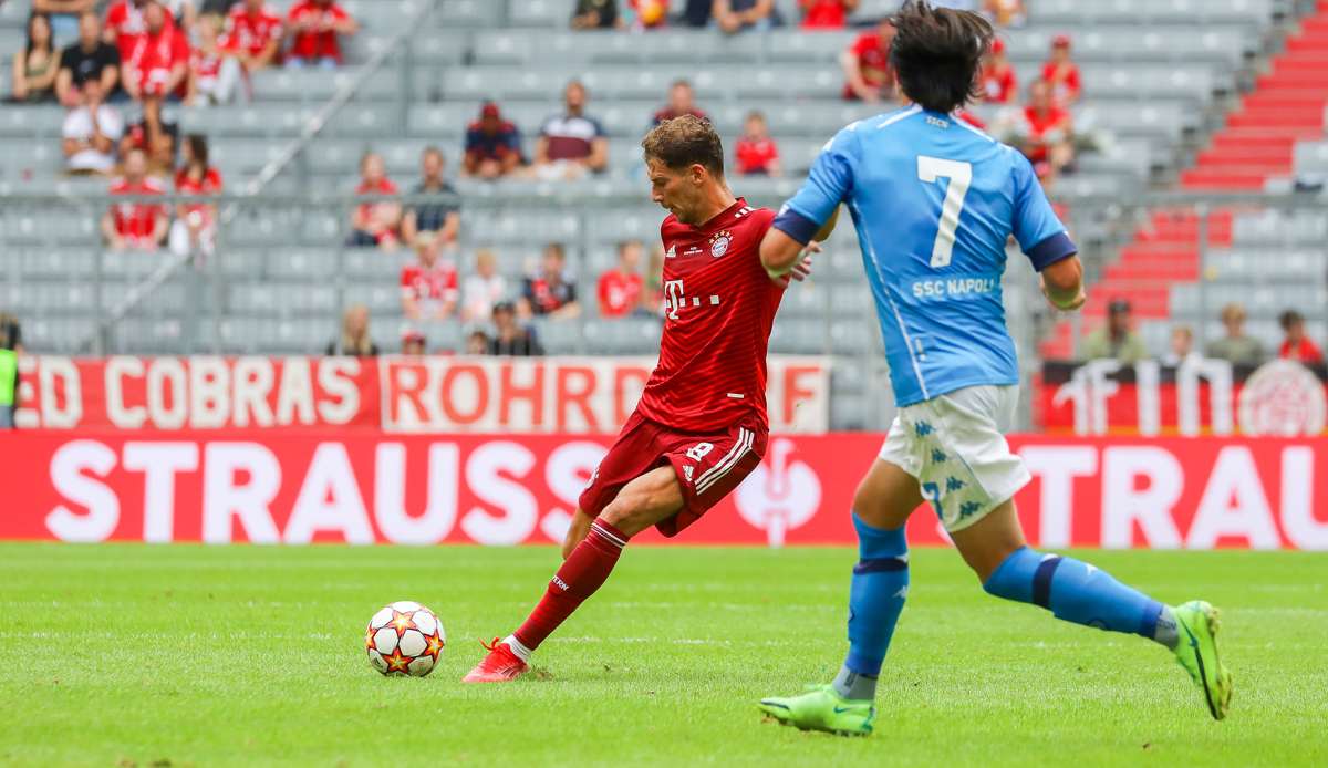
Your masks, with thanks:
[[[898,405],[1017,384],[1001,275],[1013,234],[1041,271],[1076,252],[1028,159],[961,120],[911,106],[830,140],[774,227],[807,242],[849,207]]]

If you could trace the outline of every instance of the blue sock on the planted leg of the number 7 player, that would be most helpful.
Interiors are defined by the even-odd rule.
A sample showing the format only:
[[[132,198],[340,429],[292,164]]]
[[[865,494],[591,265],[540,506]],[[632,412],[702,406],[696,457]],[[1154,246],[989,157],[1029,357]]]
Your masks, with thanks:
[[[858,565],[849,590],[849,656],[834,686],[847,699],[872,699],[895,622],[908,595],[904,529],[871,528],[857,514]]]

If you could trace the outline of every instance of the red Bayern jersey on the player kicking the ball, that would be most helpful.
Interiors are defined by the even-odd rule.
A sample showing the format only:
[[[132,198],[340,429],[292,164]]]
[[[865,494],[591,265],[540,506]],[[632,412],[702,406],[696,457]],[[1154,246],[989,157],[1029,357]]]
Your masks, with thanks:
[[[765,411],[765,353],[784,298],[761,266],[774,211],[738,199],[699,227],[669,215],[660,359],[636,412],[665,427],[714,432]]]

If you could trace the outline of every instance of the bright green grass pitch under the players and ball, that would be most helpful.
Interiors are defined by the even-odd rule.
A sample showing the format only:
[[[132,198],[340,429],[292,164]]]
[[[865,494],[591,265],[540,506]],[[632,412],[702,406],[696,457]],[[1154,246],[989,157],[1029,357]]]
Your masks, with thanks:
[[[850,549],[629,547],[510,686],[462,686],[552,547],[0,545],[0,764],[1328,765],[1328,557],[1092,551],[1167,602],[1224,611],[1231,716],[1165,650],[987,597],[915,550],[870,739],[762,723],[827,679]],[[396,599],[448,630],[388,679],[364,626]]]

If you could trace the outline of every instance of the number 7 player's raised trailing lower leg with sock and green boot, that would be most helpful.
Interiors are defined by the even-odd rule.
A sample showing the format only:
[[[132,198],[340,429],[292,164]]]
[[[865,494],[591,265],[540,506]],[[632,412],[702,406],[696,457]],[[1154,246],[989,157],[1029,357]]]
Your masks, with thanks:
[[[952,531],[951,538],[989,594],[1041,606],[1062,621],[1166,646],[1203,690],[1212,718],[1226,718],[1231,674],[1218,654],[1220,624],[1208,603],[1171,607],[1073,557],[1033,550],[1024,543],[1013,500]]]

